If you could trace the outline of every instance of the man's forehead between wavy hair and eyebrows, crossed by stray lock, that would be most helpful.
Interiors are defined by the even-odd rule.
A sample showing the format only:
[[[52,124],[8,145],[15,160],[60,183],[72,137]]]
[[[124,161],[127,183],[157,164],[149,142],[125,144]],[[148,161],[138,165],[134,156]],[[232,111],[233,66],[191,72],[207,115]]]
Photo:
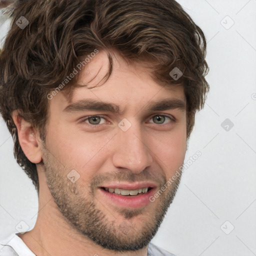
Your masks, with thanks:
[[[105,103],[129,102],[129,104],[145,103],[150,101],[156,103],[157,100],[165,100],[165,104],[176,105],[180,109],[185,104],[183,86],[181,84],[163,84],[155,81],[151,77],[150,68],[141,63],[130,63],[118,54],[113,58],[113,69],[107,81],[104,80],[108,72],[109,60],[106,52],[100,51],[87,65],[79,71],[77,83],[72,93],[68,93],[68,104],[78,102],[88,98],[88,104],[100,105],[100,101]],[[168,99],[172,98],[170,102]],[[174,102],[176,99],[176,102]],[[178,102],[179,100],[179,102]],[[183,104],[181,104],[183,101]],[[83,106],[84,106],[83,102]],[[122,105],[122,104],[121,104]],[[108,104],[112,110],[122,111],[122,106]],[[67,104],[66,104],[67,106]],[[66,106],[64,107],[66,109]],[[101,106],[103,106],[101,104]],[[106,105],[105,105],[106,106]],[[152,105],[152,108],[154,106]],[[155,106],[156,107],[156,106]],[[63,108],[63,109],[64,109]],[[68,110],[71,110],[69,107]],[[67,109],[66,109],[67,110]]]

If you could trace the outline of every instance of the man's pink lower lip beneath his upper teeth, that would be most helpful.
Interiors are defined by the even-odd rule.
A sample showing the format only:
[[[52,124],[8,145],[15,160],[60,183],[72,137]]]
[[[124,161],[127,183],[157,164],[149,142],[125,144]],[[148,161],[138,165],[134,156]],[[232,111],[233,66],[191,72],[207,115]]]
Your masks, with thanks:
[[[115,204],[123,207],[139,208],[146,206],[150,200],[149,197],[154,194],[154,188],[151,188],[146,193],[141,193],[139,195],[127,196],[121,194],[110,193],[103,188],[99,188],[100,193],[104,198],[111,200]]]

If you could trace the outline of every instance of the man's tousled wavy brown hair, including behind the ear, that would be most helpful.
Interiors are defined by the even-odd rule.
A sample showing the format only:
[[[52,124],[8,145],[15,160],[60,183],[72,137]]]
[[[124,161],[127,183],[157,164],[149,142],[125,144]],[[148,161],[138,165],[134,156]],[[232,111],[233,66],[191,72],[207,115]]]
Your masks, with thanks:
[[[21,29],[15,22],[24,16]],[[23,153],[13,110],[45,139],[47,94],[94,49],[112,52],[128,61],[151,64],[151,76],[167,86],[181,84],[186,99],[187,138],[196,110],[203,107],[209,85],[202,30],[175,0],[20,0],[0,54],[0,114],[14,141],[17,163],[39,189],[35,163]],[[169,72],[183,75],[174,80]],[[70,99],[78,76],[62,92]]]

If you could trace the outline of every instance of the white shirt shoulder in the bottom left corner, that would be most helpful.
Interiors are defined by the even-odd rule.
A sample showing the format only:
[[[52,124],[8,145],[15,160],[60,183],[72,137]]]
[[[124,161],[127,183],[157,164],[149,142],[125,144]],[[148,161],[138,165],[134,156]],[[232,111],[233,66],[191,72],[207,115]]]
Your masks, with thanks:
[[[0,256],[35,256],[35,254],[16,233],[13,233],[0,240]]]

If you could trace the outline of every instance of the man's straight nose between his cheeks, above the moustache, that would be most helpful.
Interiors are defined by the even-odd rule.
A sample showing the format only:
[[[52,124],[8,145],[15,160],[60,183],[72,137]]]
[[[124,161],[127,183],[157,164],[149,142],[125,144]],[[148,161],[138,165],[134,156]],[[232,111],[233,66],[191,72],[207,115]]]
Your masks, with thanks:
[[[152,152],[142,132],[139,124],[132,124],[126,131],[118,127],[112,158],[116,168],[126,168],[133,173],[140,173],[152,163]]]

